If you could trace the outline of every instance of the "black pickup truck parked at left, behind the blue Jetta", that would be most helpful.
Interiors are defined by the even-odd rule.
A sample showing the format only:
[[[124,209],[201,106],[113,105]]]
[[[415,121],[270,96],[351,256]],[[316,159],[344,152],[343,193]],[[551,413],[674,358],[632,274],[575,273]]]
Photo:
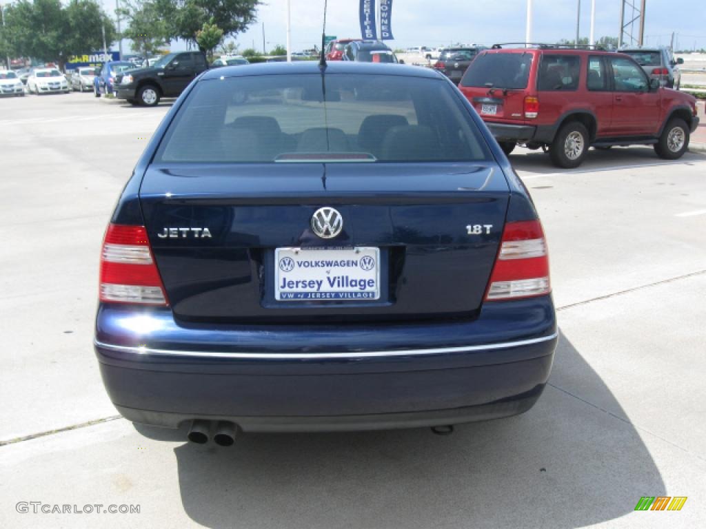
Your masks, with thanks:
[[[154,107],[162,97],[177,97],[197,75],[208,70],[201,51],[184,51],[162,56],[151,68],[119,75],[117,97],[132,104]]]

